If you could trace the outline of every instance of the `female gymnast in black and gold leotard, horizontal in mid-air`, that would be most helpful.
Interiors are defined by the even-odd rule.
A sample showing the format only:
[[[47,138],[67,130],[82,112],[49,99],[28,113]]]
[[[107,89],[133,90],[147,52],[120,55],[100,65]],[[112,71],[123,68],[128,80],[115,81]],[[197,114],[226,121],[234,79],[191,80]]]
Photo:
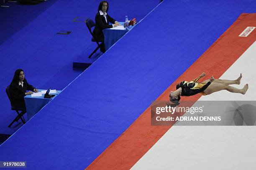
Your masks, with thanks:
[[[177,106],[179,105],[180,96],[192,96],[195,94],[208,95],[220,90],[227,90],[231,93],[241,93],[246,94],[248,90],[248,84],[246,84],[243,89],[237,89],[235,87],[229,86],[229,84],[240,84],[242,79],[242,74],[236,80],[221,80],[214,79],[212,76],[210,79],[197,82],[200,78],[205,76],[205,73],[202,73],[199,77],[192,81],[182,81],[180,84],[177,84],[176,90],[171,91],[169,94],[169,99],[173,104],[168,103],[168,105]]]

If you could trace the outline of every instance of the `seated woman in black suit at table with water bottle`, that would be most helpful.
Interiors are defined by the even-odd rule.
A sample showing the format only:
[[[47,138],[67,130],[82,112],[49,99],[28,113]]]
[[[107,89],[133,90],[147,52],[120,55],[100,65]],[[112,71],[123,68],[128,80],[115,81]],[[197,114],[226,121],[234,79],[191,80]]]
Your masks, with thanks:
[[[100,46],[100,51],[102,51],[102,53],[105,53],[106,51],[105,44],[104,44],[104,34],[102,30],[106,28],[113,28],[113,27],[116,27],[117,25],[120,25],[120,23],[118,23],[118,21],[116,21],[115,19],[111,18],[107,14],[107,12],[108,12],[108,2],[101,1],[98,7],[98,13],[95,16],[96,26],[93,30],[93,34],[97,39],[97,41],[103,42],[101,43],[101,46]],[[113,24],[109,25],[109,23],[113,23]]]

